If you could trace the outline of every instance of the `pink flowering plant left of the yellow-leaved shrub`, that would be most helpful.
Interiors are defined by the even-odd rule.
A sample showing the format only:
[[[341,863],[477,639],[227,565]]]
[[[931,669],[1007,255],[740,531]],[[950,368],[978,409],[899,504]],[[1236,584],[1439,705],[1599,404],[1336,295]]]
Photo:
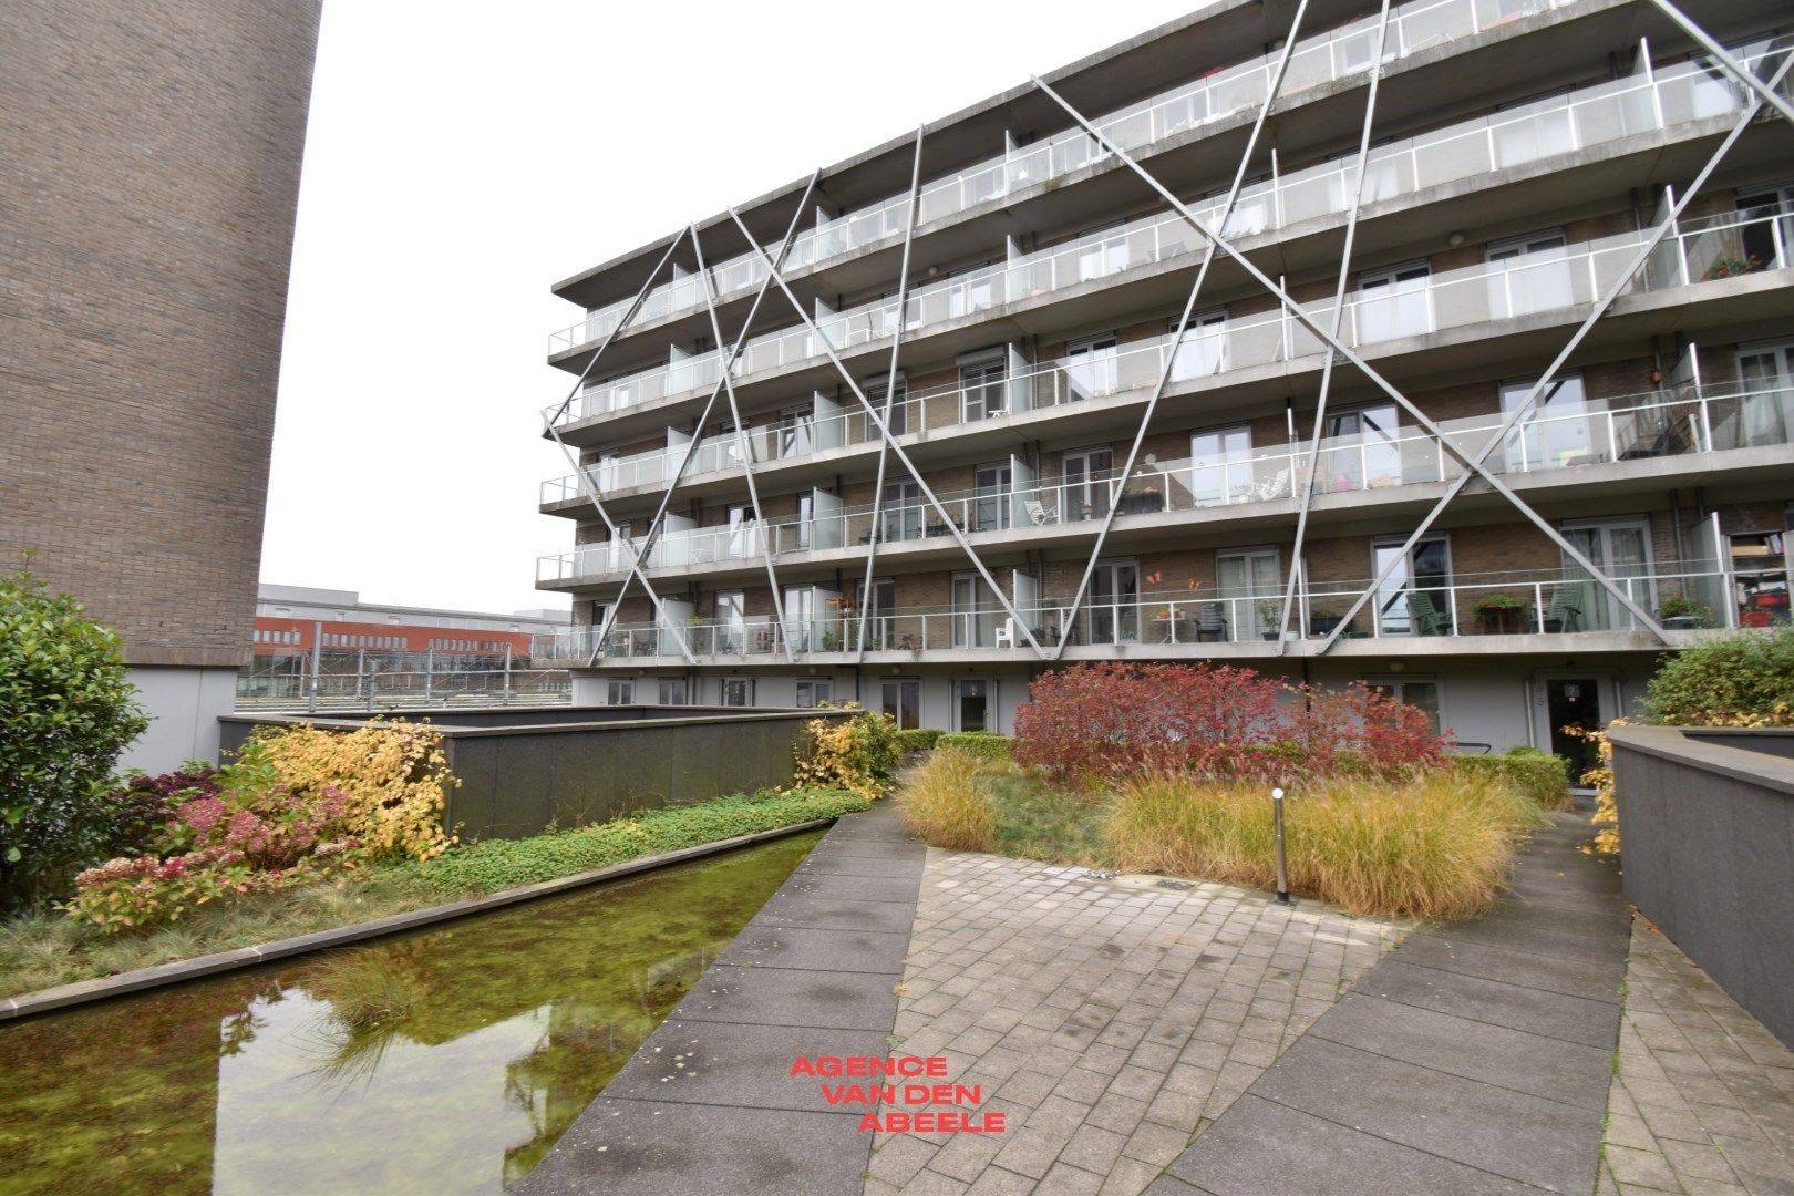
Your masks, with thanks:
[[[353,868],[362,843],[350,834],[348,809],[334,785],[300,793],[285,784],[266,746],[249,742],[203,784],[167,794],[149,852],[83,871],[66,911],[117,934]]]

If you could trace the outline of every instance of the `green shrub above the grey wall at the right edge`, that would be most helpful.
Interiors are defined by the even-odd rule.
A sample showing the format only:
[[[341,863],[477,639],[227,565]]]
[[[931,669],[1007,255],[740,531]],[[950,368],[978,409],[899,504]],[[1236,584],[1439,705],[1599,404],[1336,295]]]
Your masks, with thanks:
[[[1794,726],[1794,628],[1738,631],[1663,662],[1645,721],[1683,726]]]

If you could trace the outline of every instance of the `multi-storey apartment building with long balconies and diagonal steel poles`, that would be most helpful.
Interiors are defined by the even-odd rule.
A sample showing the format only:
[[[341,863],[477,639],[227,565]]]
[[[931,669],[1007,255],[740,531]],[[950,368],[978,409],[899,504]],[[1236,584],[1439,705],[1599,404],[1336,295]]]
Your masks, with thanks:
[[[1222,0],[556,283],[536,660],[997,732],[1215,660],[1575,755],[1789,610],[1794,117],[1733,66],[1794,22],[1688,16],[1729,63],[1649,0]]]

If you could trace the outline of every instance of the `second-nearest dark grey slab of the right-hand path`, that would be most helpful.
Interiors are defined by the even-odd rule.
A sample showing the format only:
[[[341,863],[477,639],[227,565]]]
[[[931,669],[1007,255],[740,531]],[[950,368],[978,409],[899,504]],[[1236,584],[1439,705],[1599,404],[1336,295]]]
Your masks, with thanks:
[[[1586,1192],[1595,1185],[1600,1110],[1572,1108],[1313,1036],[1290,1047],[1252,1085],[1252,1094],[1521,1183],[1559,1192]]]

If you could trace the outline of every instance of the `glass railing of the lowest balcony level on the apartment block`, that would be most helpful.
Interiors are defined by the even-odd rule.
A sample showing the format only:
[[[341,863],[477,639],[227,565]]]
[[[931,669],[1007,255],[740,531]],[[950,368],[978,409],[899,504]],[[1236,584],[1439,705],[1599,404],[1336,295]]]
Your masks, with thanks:
[[[1729,626],[1729,602],[1722,601],[1726,576],[1713,561],[1658,561],[1609,568],[1625,595],[1652,617],[1663,604],[1681,599],[1686,615],[1677,622],[1704,628]],[[1344,622],[1346,611],[1372,579],[1320,581],[1299,586],[1290,617],[1290,637],[1319,640]],[[1168,647],[1188,644],[1276,642],[1283,619],[1283,590],[1231,592],[1132,592],[1087,595],[1076,611],[1071,595],[1035,599],[1017,606],[1028,631],[1042,647]],[[1346,626],[1344,638],[1462,638],[1478,635],[1581,635],[1638,631],[1636,617],[1581,568],[1469,574],[1460,577],[1394,577],[1376,599]],[[1697,629],[1697,628],[1695,628]],[[725,622],[574,628],[536,637],[531,658],[597,663],[635,658],[682,658],[684,649],[705,662],[741,662],[797,654],[858,653],[859,615],[836,606],[827,615],[737,617]],[[1032,653],[1008,611],[999,602],[976,606],[913,606],[875,610],[867,619],[865,651],[915,658],[929,651],[992,649]]]

